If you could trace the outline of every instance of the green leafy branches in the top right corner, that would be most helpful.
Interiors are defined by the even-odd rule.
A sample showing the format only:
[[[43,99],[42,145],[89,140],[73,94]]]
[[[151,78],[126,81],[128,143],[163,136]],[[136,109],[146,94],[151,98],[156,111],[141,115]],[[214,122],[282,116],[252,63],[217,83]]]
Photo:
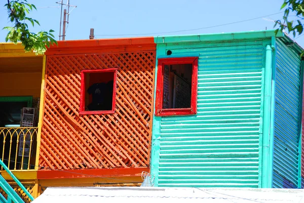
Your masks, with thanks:
[[[303,32],[303,25],[301,23],[301,20],[304,20],[304,0],[284,0],[281,9],[284,8],[284,22],[282,23],[280,20],[278,20],[276,21],[275,26],[279,24],[280,30],[283,30],[285,27],[287,27],[288,33],[291,32],[293,36],[295,36],[296,33],[300,35]],[[289,14],[292,12],[296,14],[296,21],[289,21],[288,19],[288,17],[290,17]],[[276,32],[278,32],[279,29],[277,29]]]

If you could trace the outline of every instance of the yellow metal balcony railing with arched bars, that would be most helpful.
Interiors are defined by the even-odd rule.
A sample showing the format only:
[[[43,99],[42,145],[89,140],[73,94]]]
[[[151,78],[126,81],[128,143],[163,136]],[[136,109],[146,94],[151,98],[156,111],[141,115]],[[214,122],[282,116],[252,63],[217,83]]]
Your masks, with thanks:
[[[10,170],[34,169],[37,132],[38,127],[0,128],[0,158]]]

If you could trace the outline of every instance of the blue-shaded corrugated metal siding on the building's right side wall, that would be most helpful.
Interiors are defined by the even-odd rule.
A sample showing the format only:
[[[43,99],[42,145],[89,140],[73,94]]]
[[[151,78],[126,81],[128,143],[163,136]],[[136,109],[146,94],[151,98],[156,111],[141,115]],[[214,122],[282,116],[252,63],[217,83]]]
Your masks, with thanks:
[[[273,187],[297,188],[300,60],[277,40]]]

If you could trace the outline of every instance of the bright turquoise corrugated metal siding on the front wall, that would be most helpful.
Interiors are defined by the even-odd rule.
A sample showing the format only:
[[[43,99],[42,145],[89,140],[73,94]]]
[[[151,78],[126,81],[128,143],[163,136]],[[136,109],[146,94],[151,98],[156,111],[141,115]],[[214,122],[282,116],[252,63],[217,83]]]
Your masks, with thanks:
[[[200,53],[198,113],[162,117],[158,185],[256,188],[262,43],[190,50]]]

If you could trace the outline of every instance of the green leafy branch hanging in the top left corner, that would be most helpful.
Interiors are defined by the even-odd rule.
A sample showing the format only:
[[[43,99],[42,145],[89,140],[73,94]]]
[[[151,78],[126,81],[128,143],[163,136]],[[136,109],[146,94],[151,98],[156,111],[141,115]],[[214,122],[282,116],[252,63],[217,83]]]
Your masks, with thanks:
[[[37,33],[28,30],[27,23],[31,23],[32,26],[35,24],[40,25],[37,20],[26,17],[32,9],[36,10],[34,5],[27,3],[26,0],[8,0],[8,4],[5,7],[7,7],[10,21],[14,24],[12,27],[3,28],[9,31],[5,39],[6,42],[9,40],[14,44],[21,42],[26,52],[33,51],[36,54],[44,54],[47,50],[46,46],[50,48],[50,45],[57,45],[55,37],[52,34],[54,30]]]

